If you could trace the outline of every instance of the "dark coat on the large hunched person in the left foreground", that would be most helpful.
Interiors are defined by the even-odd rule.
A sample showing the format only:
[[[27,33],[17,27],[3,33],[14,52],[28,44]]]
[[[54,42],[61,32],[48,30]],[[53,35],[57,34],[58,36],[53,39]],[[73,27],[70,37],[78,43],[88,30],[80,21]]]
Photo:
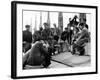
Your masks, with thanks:
[[[48,54],[43,44],[39,41],[35,42],[30,51],[24,56],[23,64],[27,65],[41,65],[44,61],[45,55]]]

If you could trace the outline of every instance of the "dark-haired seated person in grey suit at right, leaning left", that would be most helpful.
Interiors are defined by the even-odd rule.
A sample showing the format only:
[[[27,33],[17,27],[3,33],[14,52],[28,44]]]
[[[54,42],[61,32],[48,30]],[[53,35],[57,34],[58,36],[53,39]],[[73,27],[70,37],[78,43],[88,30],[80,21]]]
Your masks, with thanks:
[[[88,32],[88,25],[84,25],[83,23],[80,23],[79,25],[80,32],[75,36],[76,41],[73,44],[73,54],[76,54],[76,51],[79,52],[79,55],[85,54],[85,45],[90,41],[90,35]]]

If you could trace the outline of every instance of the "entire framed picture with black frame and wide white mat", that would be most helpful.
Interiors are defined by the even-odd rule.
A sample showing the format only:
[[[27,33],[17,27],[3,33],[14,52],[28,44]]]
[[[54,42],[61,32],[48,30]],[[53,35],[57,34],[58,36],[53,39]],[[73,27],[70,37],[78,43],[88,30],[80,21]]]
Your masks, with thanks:
[[[96,73],[96,6],[12,4],[16,77]]]

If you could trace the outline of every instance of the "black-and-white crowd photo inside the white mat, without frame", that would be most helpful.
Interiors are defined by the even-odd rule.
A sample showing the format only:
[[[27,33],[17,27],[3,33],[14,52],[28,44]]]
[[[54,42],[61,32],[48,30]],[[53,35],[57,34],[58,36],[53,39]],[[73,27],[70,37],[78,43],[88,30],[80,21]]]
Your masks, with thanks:
[[[88,13],[23,11],[23,69],[91,66]]]

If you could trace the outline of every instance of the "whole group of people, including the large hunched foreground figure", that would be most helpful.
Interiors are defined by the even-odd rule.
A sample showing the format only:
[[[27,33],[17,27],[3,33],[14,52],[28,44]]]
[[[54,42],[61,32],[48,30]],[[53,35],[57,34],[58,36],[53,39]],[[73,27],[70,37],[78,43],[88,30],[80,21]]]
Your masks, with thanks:
[[[60,53],[63,49],[63,44],[67,44],[67,51],[72,54],[85,54],[85,45],[90,42],[90,32],[86,19],[84,23],[77,20],[77,16],[73,19],[69,18],[69,23],[64,31],[60,30],[56,24],[54,28],[50,28],[48,23],[44,23],[43,27],[30,32],[30,25],[26,25],[26,30],[23,31],[23,67],[28,65],[50,65],[51,55],[55,52]],[[62,44],[61,44],[62,43]]]

